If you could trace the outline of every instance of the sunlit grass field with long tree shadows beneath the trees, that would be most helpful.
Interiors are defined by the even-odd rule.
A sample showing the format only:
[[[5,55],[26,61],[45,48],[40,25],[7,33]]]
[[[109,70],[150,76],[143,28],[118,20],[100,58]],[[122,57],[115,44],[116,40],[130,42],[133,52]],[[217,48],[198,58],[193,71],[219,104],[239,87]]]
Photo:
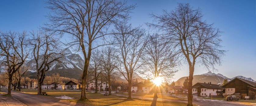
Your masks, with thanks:
[[[37,90],[27,90],[23,89],[21,92],[27,93],[27,94],[37,94]],[[37,95],[44,98],[54,99],[58,101],[65,101],[65,102],[71,102],[71,103],[78,103],[78,104],[86,104],[86,105],[93,105],[93,106],[148,106],[151,105],[152,101],[149,100],[127,100],[126,97],[123,96],[116,96],[116,95],[108,95],[104,96],[100,93],[92,93],[87,92],[87,98],[89,100],[86,101],[80,101],[80,91],[62,91],[62,90],[42,90],[42,92],[47,92],[47,96],[45,95]],[[66,95],[68,97],[74,98],[74,99],[58,99],[55,97],[59,97],[61,95]],[[145,94],[144,96],[151,97],[151,94]],[[158,96],[160,97],[160,96]],[[180,103],[180,102],[172,102],[172,101],[156,101],[154,102],[157,106],[186,106],[187,103]]]

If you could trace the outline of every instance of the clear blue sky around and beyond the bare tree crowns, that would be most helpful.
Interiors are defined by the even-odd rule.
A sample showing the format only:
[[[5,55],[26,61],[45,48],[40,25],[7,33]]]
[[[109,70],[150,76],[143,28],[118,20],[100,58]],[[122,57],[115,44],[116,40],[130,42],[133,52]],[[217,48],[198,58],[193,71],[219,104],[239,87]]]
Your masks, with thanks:
[[[229,78],[237,75],[256,80],[256,2],[255,0],[129,0],[128,4],[137,4],[130,14],[129,21],[134,27],[152,22],[150,13],[162,14],[162,10],[171,11],[177,2],[190,3],[193,8],[201,8],[203,19],[214,23],[222,33],[223,50],[228,50],[221,66],[216,66]],[[42,26],[49,10],[40,0],[0,1],[0,31],[32,31]],[[68,39],[68,37],[66,37]],[[66,39],[63,38],[63,39]],[[174,76],[174,81],[188,76],[188,67],[184,64]],[[197,66],[194,75],[206,73],[202,66]]]

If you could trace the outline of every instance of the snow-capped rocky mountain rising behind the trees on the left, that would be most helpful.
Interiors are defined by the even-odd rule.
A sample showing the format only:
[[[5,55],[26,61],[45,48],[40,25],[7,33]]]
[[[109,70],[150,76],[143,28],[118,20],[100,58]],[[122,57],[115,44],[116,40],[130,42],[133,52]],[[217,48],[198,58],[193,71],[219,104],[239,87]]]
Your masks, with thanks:
[[[58,56],[58,55],[56,55]],[[73,54],[69,49],[66,49],[63,52],[63,56],[60,59],[62,63],[57,61],[53,62],[50,66],[49,71],[46,75],[52,75],[53,73],[59,73],[62,77],[76,78],[78,79],[82,73],[84,66],[84,60],[80,57],[79,54]],[[27,62],[27,65],[30,68],[28,73],[31,78],[36,78],[36,64],[35,60],[31,59]]]

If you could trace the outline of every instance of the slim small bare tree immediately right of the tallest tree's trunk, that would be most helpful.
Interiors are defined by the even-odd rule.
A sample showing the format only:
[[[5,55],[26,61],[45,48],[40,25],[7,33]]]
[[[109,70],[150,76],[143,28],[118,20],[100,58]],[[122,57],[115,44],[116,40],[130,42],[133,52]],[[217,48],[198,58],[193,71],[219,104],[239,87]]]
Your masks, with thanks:
[[[98,93],[98,79],[100,78],[100,75],[103,71],[101,69],[101,52],[98,51],[98,49],[95,49],[95,51],[92,51],[91,55],[91,75],[93,76],[93,79],[95,81],[95,93]]]

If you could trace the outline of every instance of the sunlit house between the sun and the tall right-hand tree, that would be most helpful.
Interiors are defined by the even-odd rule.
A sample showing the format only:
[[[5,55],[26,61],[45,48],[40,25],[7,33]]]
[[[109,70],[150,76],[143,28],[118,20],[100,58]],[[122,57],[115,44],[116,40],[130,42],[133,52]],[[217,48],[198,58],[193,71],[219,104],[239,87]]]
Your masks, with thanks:
[[[165,85],[164,89],[162,89],[164,94],[187,94],[187,92],[187,89],[182,86]]]

